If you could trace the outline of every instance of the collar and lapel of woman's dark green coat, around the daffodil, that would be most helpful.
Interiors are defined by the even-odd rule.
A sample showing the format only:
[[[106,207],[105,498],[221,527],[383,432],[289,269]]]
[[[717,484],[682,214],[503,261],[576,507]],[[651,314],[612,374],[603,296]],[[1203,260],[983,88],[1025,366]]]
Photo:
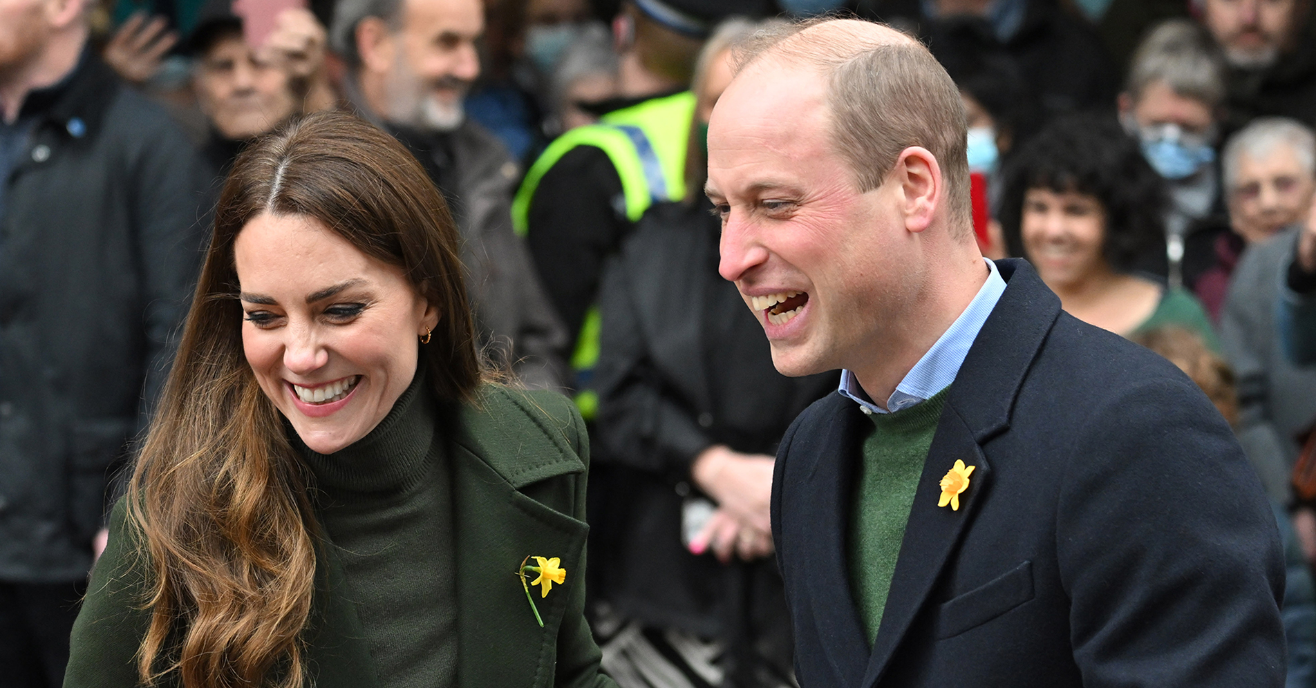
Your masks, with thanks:
[[[588,526],[520,491],[584,472],[584,463],[517,405],[509,395],[486,397],[483,410],[463,412],[465,431],[454,443],[459,685],[551,685],[567,591],[584,584]],[[547,442],[533,437],[541,431]],[[566,583],[546,597],[530,588],[544,627],[515,575],[528,555],[557,556],[566,570]]]

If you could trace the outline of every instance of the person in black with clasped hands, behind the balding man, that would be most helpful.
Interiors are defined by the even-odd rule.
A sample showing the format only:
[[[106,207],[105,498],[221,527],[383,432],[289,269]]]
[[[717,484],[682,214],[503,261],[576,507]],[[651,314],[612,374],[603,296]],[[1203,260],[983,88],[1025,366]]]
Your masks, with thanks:
[[[730,82],[730,55],[762,24],[732,20],[699,58],[691,174]],[[701,188],[703,175],[688,180]],[[769,499],[776,443],[836,375],[790,379],[762,328],[717,275],[721,222],[703,193],[649,209],[600,289],[596,439],[619,489],[600,534],[595,630],[626,688],[794,685]]]

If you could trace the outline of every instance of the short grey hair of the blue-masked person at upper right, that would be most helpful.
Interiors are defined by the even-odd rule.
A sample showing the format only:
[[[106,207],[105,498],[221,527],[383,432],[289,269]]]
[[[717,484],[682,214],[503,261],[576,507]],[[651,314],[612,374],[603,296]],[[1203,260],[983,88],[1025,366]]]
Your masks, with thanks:
[[[1225,64],[1205,29],[1191,20],[1169,20],[1133,54],[1125,91],[1134,100],[1155,82],[1209,108],[1225,100]]]

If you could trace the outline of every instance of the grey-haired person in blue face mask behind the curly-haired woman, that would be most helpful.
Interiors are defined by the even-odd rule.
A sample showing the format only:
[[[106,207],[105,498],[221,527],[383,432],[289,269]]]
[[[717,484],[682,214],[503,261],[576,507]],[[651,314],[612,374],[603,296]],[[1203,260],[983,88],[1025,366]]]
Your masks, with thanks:
[[[1224,63],[1211,38],[1188,20],[1155,28],[1134,53],[1117,99],[1125,132],[1165,179],[1165,255],[1148,255],[1141,268],[1192,287],[1215,263],[1213,243],[1227,232],[1216,163],[1225,99]]]

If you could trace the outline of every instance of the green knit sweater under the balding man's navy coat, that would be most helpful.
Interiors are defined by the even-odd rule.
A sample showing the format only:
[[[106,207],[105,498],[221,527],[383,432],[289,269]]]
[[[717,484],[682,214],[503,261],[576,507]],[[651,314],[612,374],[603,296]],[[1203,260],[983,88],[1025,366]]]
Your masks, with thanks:
[[[873,430],[855,472],[849,550],[850,592],[870,645],[882,625],[915,489],[945,401],[942,389],[915,406],[869,416]]]

